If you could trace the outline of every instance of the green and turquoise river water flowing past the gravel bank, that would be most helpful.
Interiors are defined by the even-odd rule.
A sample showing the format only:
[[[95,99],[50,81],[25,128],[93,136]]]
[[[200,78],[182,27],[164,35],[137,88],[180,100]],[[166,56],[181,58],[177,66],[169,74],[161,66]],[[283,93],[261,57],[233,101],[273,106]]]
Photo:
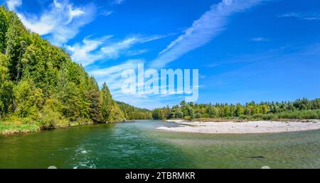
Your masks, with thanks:
[[[320,130],[252,135],[167,132],[137,120],[0,136],[0,168],[320,168]]]

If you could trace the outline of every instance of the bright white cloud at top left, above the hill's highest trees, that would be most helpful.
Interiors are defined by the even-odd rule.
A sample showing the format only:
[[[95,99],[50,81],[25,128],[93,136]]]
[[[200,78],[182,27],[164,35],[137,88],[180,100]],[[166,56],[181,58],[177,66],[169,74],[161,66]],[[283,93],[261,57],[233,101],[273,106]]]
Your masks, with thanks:
[[[16,11],[17,6],[21,6],[21,0],[6,1],[10,10]],[[68,42],[74,38],[80,27],[92,21],[95,14],[95,6],[75,7],[68,0],[54,0],[48,9],[40,15],[23,14],[16,12],[22,23],[31,31],[47,36],[49,41],[57,46]]]

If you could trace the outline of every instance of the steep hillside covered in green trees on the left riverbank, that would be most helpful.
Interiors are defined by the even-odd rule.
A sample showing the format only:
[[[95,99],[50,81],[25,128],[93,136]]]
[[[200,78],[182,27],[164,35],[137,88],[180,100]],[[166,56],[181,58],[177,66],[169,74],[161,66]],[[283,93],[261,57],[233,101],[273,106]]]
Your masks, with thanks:
[[[138,108],[120,108],[106,84],[100,89],[67,52],[0,6],[0,132],[12,125],[30,131],[142,117]]]

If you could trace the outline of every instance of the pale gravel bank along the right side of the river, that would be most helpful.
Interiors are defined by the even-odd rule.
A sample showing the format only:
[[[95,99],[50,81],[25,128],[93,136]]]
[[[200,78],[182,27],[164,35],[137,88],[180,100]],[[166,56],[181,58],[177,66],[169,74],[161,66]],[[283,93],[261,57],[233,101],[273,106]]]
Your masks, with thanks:
[[[178,127],[158,127],[159,130],[174,132],[198,132],[213,134],[245,134],[270,132],[297,132],[320,129],[320,120],[301,120],[294,122],[250,121],[250,122],[186,122],[167,120],[180,124]]]

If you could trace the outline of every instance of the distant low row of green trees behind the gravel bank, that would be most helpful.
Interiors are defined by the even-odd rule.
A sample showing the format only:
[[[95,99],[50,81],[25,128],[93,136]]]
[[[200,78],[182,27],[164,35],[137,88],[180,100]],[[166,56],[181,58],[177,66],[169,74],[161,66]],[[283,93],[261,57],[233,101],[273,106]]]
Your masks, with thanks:
[[[306,98],[294,102],[281,103],[216,103],[194,104],[182,101],[172,108],[157,108],[153,110],[154,120],[201,118],[239,119],[239,120],[280,120],[280,119],[320,119],[320,98]]]

